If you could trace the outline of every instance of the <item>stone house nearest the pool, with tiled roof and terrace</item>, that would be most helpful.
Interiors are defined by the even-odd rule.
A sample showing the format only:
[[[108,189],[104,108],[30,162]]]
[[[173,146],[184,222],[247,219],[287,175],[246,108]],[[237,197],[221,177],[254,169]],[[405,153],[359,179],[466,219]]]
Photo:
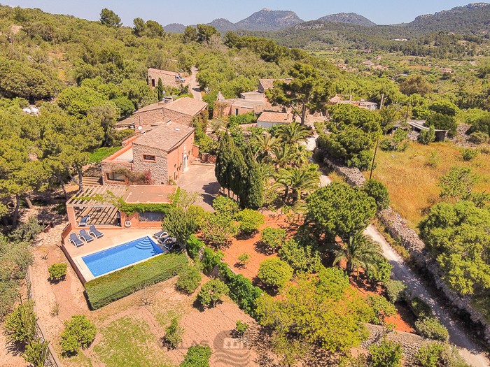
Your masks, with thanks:
[[[130,183],[124,173],[127,170],[149,172],[153,185],[169,185],[197,155],[194,131],[193,127],[165,122],[128,139],[123,149],[101,162],[102,182],[126,185]]]

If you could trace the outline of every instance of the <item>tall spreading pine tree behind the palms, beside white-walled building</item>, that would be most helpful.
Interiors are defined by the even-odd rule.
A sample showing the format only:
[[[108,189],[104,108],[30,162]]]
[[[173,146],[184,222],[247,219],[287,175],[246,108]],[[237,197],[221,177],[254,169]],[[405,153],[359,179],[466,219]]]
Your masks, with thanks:
[[[304,124],[308,111],[314,113],[324,108],[333,88],[317,69],[307,64],[294,64],[289,74],[293,80],[277,80],[274,87],[266,92],[267,98],[274,105],[292,108]]]

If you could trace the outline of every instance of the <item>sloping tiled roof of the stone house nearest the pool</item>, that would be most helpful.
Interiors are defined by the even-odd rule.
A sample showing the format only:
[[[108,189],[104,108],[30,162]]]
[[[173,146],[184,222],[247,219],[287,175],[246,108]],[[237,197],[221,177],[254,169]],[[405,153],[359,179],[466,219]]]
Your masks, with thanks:
[[[170,152],[179,146],[190,134],[193,134],[194,130],[193,127],[168,122],[151,129],[151,131],[137,138],[133,144]]]

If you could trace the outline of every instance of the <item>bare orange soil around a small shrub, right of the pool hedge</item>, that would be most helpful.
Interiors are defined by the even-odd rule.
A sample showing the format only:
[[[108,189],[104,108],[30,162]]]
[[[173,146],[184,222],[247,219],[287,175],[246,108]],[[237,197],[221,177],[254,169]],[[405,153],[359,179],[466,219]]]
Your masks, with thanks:
[[[266,215],[265,218],[265,224],[260,227],[260,230],[255,233],[253,237],[243,240],[233,238],[231,245],[223,250],[223,261],[235,272],[244,275],[244,277],[251,280],[255,280],[255,278],[257,278],[258,268],[262,261],[271,257],[277,257],[276,252],[267,252],[261,248],[260,231],[265,229],[267,226],[272,228],[283,228],[286,229],[286,231],[289,231],[290,229],[290,225],[286,223],[285,217],[274,220],[274,218],[269,218]],[[245,267],[237,266],[237,263],[239,262],[238,257],[245,252],[251,255],[250,260]]]

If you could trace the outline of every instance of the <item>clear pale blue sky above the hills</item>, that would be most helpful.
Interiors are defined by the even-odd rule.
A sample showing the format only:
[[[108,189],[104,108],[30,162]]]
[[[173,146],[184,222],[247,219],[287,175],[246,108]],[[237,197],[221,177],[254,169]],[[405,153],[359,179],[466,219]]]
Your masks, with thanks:
[[[411,22],[417,15],[449,10],[475,0],[0,0],[2,5],[41,8],[48,13],[99,20],[102,8],[116,12],[123,24],[135,17],[169,23],[209,23],[216,18],[238,22],[262,8],[293,10],[302,20],[316,20],[335,13],[358,13],[377,24]]]

